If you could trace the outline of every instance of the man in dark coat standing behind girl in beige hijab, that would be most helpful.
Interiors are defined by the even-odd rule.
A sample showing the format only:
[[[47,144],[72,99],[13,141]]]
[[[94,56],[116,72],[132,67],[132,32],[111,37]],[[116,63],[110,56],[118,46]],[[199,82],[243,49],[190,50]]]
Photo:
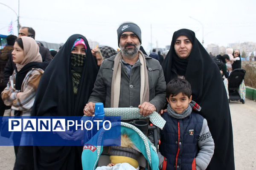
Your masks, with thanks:
[[[18,37],[23,37],[23,36],[32,37],[35,39],[35,30],[31,27],[21,27]],[[39,45],[39,53],[42,56],[43,62],[47,66],[49,64],[49,62],[52,61],[52,55],[51,55],[49,49]],[[8,62],[4,69],[4,76],[5,76],[6,84],[9,81],[9,77],[12,75],[14,68],[15,68],[15,64],[12,61],[12,56],[9,56]]]

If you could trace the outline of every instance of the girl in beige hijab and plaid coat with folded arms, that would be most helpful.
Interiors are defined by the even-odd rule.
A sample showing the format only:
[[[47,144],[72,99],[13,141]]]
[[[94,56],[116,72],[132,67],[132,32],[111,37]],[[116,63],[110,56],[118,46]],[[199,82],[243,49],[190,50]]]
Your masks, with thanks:
[[[31,37],[20,37],[15,41],[12,59],[16,64],[7,87],[1,93],[5,105],[11,106],[10,116],[30,116],[38,83],[44,73],[44,64],[39,47]],[[25,137],[24,137],[25,136]],[[33,169],[33,147],[26,145],[27,134],[13,135],[15,145],[14,169]]]

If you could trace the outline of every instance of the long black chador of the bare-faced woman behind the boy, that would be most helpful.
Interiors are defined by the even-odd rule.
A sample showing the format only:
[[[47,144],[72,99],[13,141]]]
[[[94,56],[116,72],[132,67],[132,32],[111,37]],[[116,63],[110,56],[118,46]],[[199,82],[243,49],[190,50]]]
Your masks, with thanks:
[[[185,35],[192,42],[188,61],[177,59],[174,45],[180,35]],[[186,62],[187,65],[184,64]],[[234,170],[233,131],[227,93],[217,65],[193,31],[180,29],[173,34],[162,66],[166,83],[177,78],[177,73],[183,72],[177,69],[186,68],[184,75],[192,87],[192,100],[201,106],[199,114],[207,119],[215,142],[214,155],[207,170]]]

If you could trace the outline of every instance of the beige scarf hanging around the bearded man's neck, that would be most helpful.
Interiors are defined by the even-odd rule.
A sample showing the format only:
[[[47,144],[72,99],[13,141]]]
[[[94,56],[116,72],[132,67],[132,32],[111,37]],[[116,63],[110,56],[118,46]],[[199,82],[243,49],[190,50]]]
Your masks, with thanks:
[[[118,108],[120,85],[121,85],[121,59],[122,53],[116,54],[114,60],[114,70],[111,83],[111,108]],[[144,54],[139,51],[140,65],[140,104],[149,102],[149,85],[148,85],[148,71]]]

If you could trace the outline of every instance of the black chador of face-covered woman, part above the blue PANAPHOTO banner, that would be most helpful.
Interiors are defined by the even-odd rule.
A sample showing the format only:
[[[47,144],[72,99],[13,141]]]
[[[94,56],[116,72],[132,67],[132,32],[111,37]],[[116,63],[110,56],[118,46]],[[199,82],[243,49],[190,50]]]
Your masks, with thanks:
[[[82,38],[87,46],[85,63],[76,99],[73,93],[70,65],[71,49],[76,39]],[[37,90],[33,107],[34,116],[83,116],[98,73],[86,38],[80,34],[69,37],[45,70]]]

